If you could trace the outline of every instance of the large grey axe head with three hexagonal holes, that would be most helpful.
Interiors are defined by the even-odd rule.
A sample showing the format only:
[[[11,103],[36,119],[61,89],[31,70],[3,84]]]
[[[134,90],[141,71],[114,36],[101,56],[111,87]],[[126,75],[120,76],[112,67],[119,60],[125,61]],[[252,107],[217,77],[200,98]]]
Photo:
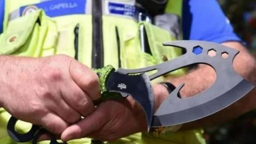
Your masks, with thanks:
[[[157,70],[149,76],[150,79],[154,79],[194,63],[203,63],[215,70],[217,79],[209,89],[186,99],[178,98],[177,92],[182,85],[178,87],[179,89],[175,90],[155,113],[152,124],[154,127],[186,123],[208,116],[231,105],[254,87],[233,68],[233,60],[239,53],[235,49],[204,41],[173,41],[164,45],[181,47],[186,50],[186,53],[159,65],[141,69],[118,69],[118,71],[124,74],[135,74]],[[201,51],[195,52],[196,49]],[[215,55],[210,55],[211,51],[215,52]],[[223,55],[227,57],[222,57]]]

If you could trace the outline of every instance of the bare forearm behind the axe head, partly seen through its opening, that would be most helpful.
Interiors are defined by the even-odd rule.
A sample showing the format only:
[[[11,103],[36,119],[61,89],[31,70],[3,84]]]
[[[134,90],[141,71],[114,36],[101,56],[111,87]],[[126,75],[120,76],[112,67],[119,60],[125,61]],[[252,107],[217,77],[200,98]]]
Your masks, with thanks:
[[[237,42],[225,43],[229,47],[233,47],[240,51],[234,60],[234,68],[238,74],[242,75],[247,81],[256,84],[256,64],[254,58],[246,51],[246,49]],[[197,69],[190,71],[185,76],[169,79],[175,86],[185,83],[185,86],[181,90],[181,96],[190,97],[197,93],[206,90],[215,81],[216,75],[214,70],[210,66],[199,65]],[[199,126],[208,126],[225,122],[229,119],[235,118],[247,111],[256,107],[256,90],[246,95],[243,99],[237,101],[230,107],[222,110],[220,113],[214,114],[207,118],[200,119],[195,122],[191,122],[183,125],[182,129],[191,129]],[[230,95],[232,97],[232,95]],[[163,99],[163,98],[161,98]],[[235,111],[235,113],[232,113]]]

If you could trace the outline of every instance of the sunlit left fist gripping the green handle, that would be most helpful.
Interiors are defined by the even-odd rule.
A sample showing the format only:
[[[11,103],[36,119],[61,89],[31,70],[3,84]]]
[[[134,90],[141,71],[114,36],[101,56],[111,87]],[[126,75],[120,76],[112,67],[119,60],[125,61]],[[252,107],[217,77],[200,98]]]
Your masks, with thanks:
[[[100,97],[98,76],[65,55],[0,59],[0,106],[54,134],[91,114],[92,100]]]

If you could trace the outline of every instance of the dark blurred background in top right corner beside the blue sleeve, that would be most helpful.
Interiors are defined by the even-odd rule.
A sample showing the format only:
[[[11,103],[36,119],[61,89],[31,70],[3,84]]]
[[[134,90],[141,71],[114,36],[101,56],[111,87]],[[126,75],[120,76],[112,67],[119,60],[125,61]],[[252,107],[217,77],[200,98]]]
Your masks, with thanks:
[[[236,33],[256,51],[256,0],[219,0]]]

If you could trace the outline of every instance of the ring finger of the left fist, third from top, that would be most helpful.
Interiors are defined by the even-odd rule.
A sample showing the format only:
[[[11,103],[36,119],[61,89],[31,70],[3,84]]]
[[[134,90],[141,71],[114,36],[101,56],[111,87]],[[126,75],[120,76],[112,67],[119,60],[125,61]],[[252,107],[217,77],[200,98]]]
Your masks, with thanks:
[[[74,124],[81,119],[81,115],[63,99],[48,101],[47,107],[69,124]]]

